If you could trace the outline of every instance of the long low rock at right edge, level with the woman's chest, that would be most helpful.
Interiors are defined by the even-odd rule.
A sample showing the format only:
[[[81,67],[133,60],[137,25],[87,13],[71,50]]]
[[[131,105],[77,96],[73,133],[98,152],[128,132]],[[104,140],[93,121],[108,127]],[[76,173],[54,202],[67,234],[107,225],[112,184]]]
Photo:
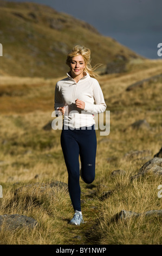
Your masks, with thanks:
[[[156,75],[156,76],[152,76],[152,77],[146,78],[144,80],[140,80],[140,81],[138,81],[136,83],[133,83],[130,86],[128,86],[126,88],[126,91],[128,92],[128,91],[134,90],[136,88],[142,88],[145,83],[158,82],[161,78],[162,78],[162,74]]]

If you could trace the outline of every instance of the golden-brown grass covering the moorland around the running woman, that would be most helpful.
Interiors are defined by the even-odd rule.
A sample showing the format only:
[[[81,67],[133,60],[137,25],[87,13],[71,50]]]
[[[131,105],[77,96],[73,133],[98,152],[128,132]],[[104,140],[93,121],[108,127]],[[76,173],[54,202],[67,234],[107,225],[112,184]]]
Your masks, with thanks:
[[[27,215],[38,222],[33,230],[18,229],[11,233],[2,228],[1,245],[161,244],[160,218],[140,216],[112,221],[123,209],[138,213],[161,209],[162,201],[157,196],[160,176],[147,174],[130,180],[147,161],[145,157],[153,158],[161,148],[161,81],[126,92],[131,83],[160,73],[160,62],[157,66],[146,62],[142,70],[137,64],[134,72],[99,78],[107,109],[111,111],[111,131],[108,136],[100,136],[100,130],[96,130],[96,177],[90,185],[80,180],[85,221],[80,227],[68,224],[74,212],[64,188],[53,188],[51,197],[48,190],[41,193],[31,186],[37,182],[68,180],[60,145],[61,131],[43,130],[53,120],[56,79],[6,77],[1,81],[0,215]],[[146,119],[150,129],[131,128],[139,119]],[[132,150],[146,151],[126,157]],[[125,174],[112,176],[116,169],[125,170]],[[15,190],[26,185],[29,189],[22,191],[16,200]],[[108,191],[112,191],[110,196],[101,200]]]

